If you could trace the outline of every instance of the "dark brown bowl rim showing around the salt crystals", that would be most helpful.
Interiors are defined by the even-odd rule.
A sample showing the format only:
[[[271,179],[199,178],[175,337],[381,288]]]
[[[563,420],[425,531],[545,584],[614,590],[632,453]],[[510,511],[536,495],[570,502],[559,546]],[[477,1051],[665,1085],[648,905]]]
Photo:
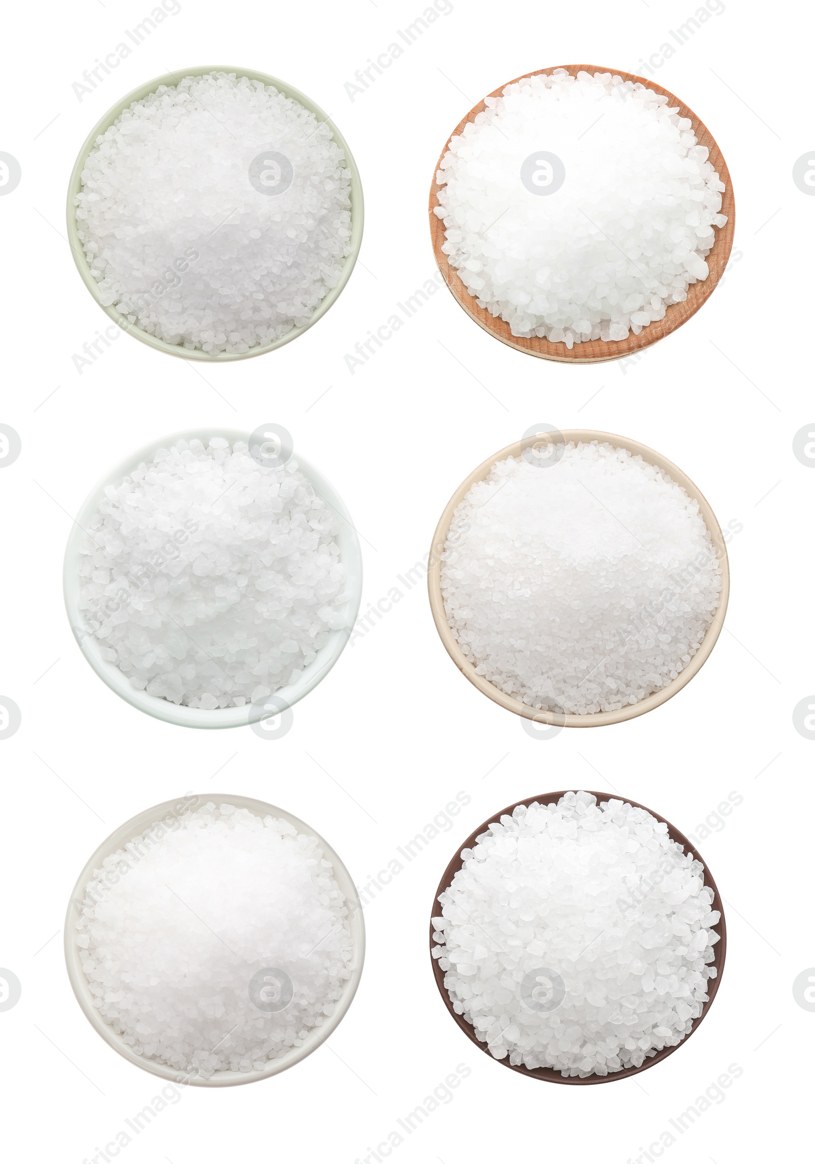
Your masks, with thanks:
[[[574,788],[574,789],[566,789],[566,792],[578,792],[578,789],[577,788]],[[450,861],[450,864],[445,868],[444,874],[442,875],[442,880],[438,882],[438,888],[436,889],[436,895],[432,899],[432,909],[430,911],[430,917],[432,918],[432,917],[438,917],[439,916],[439,914],[438,914],[438,899],[439,899],[441,894],[444,893],[445,889],[450,888],[450,886],[452,883],[453,876],[456,875],[456,873],[458,873],[458,871],[460,870],[460,867],[463,865],[463,861],[462,861],[462,850],[463,849],[472,849],[473,845],[477,843],[478,837],[480,837],[482,832],[487,831],[487,829],[489,828],[491,822],[499,821],[505,815],[506,816],[510,816],[512,812],[514,811],[514,809],[516,809],[519,804],[524,804],[527,808],[530,804],[534,804],[534,803],[538,803],[538,804],[556,804],[560,800],[560,797],[564,796],[564,795],[565,795],[565,792],[545,793],[543,796],[530,796],[529,800],[516,801],[514,804],[510,804],[508,808],[501,809],[500,812],[495,812],[487,821],[485,821],[484,824],[479,825],[479,828],[476,829],[476,831],[472,832],[467,837],[467,839],[464,842],[464,844],[459,846],[456,856],[453,857],[453,859]],[[627,804],[634,805],[634,808],[644,808],[645,811],[650,812],[651,816],[653,816],[653,817],[657,818],[657,821],[662,821],[663,824],[667,825],[667,831],[669,831],[669,836],[671,837],[671,840],[678,840],[679,844],[682,846],[682,849],[685,850],[686,853],[693,853],[694,858],[698,861],[701,861],[702,865],[705,865],[705,885],[708,886],[710,889],[713,889],[713,907],[712,908],[713,909],[717,909],[719,913],[722,915],[721,918],[720,918],[720,921],[716,923],[716,925],[713,927],[713,930],[716,934],[719,934],[719,942],[713,947],[714,951],[715,951],[715,957],[713,959],[713,965],[716,967],[716,977],[708,979],[708,984],[707,984],[708,1001],[705,1002],[705,1003],[702,1003],[702,1013],[701,1013],[701,1015],[699,1016],[699,1018],[694,1018],[693,1020],[693,1025],[691,1028],[689,1034],[687,1034],[685,1036],[685,1038],[681,1041],[681,1043],[677,1044],[677,1046],[665,1046],[665,1048],[663,1048],[662,1051],[657,1051],[657,1053],[655,1056],[652,1056],[650,1059],[645,1059],[645,1062],[643,1063],[643,1065],[641,1067],[624,1067],[622,1071],[614,1071],[614,1072],[612,1072],[608,1076],[588,1076],[586,1079],[580,1079],[577,1076],[574,1076],[574,1077],[569,1076],[567,1078],[564,1079],[564,1077],[560,1074],[560,1072],[556,1071],[555,1067],[535,1067],[534,1070],[530,1070],[529,1067],[524,1067],[524,1066],[517,1066],[517,1067],[513,1066],[509,1063],[509,1058],[508,1057],[505,1058],[505,1059],[493,1059],[493,1056],[489,1052],[489,1050],[487,1048],[487,1044],[482,1043],[479,1038],[476,1037],[476,1031],[474,1031],[474,1029],[472,1027],[472,1023],[469,1023],[466,1021],[466,1018],[464,1017],[464,1015],[458,1015],[453,1010],[452,1002],[450,1001],[450,995],[448,994],[446,989],[444,988],[444,971],[438,965],[438,959],[434,958],[432,953],[431,953],[430,954],[430,960],[432,961],[432,973],[434,973],[434,978],[436,979],[436,986],[438,987],[438,993],[442,995],[442,1000],[444,1002],[444,1006],[448,1008],[448,1010],[450,1012],[450,1014],[452,1015],[452,1017],[455,1018],[455,1021],[458,1023],[458,1025],[462,1028],[462,1030],[464,1031],[464,1034],[467,1036],[467,1038],[470,1039],[470,1042],[474,1043],[474,1045],[479,1049],[479,1051],[484,1051],[485,1055],[489,1056],[489,1058],[493,1059],[493,1062],[500,1063],[501,1066],[509,1067],[510,1071],[517,1071],[522,1076],[528,1076],[530,1079],[543,1079],[543,1080],[545,1080],[546,1083],[550,1083],[550,1084],[610,1084],[610,1083],[614,1083],[616,1079],[628,1079],[629,1076],[636,1076],[636,1074],[639,1074],[642,1071],[648,1071],[648,1069],[652,1067],[655,1065],[655,1063],[662,1063],[662,1060],[666,1059],[669,1055],[671,1055],[673,1051],[678,1050],[680,1046],[684,1046],[685,1043],[687,1043],[688,1038],[691,1038],[691,1035],[694,1035],[696,1032],[696,1030],[699,1028],[699,1024],[702,1022],[702,1020],[707,1015],[708,1010],[713,1006],[713,1000],[716,996],[716,991],[719,989],[719,984],[722,980],[722,971],[724,970],[724,956],[727,953],[728,939],[727,939],[727,928],[725,928],[725,924],[724,924],[724,909],[722,907],[722,899],[721,899],[721,896],[719,894],[719,889],[716,888],[716,882],[710,876],[710,871],[708,870],[707,865],[705,864],[705,861],[702,860],[702,858],[700,857],[700,854],[693,847],[693,845],[691,844],[691,842],[687,839],[687,837],[685,837],[679,831],[679,829],[675,829],[671,824],[670,821],[666,821],[665,817],[659,816],[658,812],[655,812],[653,809],[646,808],[644,804],[638,804],[637,801],[629,800],[628,796],[616,796],[616,795],[613,795],[610,793],[593,793],[591,790],[589,790],[589,795],[596,797],[598,804],[601,801],[622,800]],[[432,921],[431,921],[430,922],[430,950],[432,950],[434,946],[437,945],[437,943],[434,942],[434,938],[432,938],[435,929],[436,929],[436,927],[432,924]]]

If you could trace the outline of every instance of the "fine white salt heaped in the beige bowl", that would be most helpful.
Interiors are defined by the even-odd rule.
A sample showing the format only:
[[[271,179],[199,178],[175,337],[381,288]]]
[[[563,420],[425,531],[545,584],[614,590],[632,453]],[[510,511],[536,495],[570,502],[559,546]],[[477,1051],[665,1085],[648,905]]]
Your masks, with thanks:
[[[456,508],[442,558],[448,624],[478,674],[555,712],[617,711],[666,687],[721,591],[699,503],[598,441],[499,461]]]

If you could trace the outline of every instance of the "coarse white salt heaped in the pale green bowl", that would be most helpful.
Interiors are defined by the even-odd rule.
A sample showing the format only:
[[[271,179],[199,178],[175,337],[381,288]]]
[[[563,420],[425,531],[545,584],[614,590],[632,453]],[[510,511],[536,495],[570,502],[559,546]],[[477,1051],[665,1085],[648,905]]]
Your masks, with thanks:
[[[350,171],[329,123],[235,73],[134,101],[81,182],[100,301],[190,350],[246,353],[308,324],[351,253]]]

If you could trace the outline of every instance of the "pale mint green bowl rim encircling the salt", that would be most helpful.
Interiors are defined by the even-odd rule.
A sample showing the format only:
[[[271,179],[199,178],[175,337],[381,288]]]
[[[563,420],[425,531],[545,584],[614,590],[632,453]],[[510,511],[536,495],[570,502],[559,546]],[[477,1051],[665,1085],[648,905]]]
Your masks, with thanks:
[[[237,77],[249,77],[250,80],[260,80],[264,85],[273,85],[274,88],[284,94],[284,97],[291,97],[293,100],[299,101],[306,109],[309,109],[315,115],[317,121],[329,121],[331,125],[331,136],[339,149],[344,152],[345,165],[351,173],[351,254],[343,264],[343,271],[339,276],[337,285],[331,288],[324,299],[321,299],[316,311],[309,321],[302,327],[293,327],[291,332],[286,332],[285,335],[281,335],[279,340],[274,340],[273,343],[266,343],[263,347],[251,348],[249,352],[219,352],[217,355],[209,355],[207,352],[185,348],[180,343],[167,343],[165,340],[159,340],[156,335],[150,335],[149,332],[144,332],[141,327],[136,327],[128,320],[127,315],[123,315],[115,307],[106,307],[100,301],[96,281],[91,274],[91,267],[85,257],[85,250],[79,241],[76,215],[77,207],[74,203],[74,198],[81,190],[81,172],[85,169],[85,161],[93,149],[96,137],[103,134],[105,130],[114,123],[116,118],[124,112],[124,109],[133,105],[134,101],[141,101],[149,93],[153,93],[159,85],[177,85],[184,77],[203,77],[206,73],[210,72],[235,73]],[[71,172],[71,180],[67,187],[67,239],[71,244],[71,253],[73,255],[73,261],[77,264],[77,270],[83,277],[83,283],[102,311],[110,317],[117,327],[120,327],[123,332],[127,332],[128,335],[135,335],[137,340],[142,341],[142,343],[148,343],[151,348],[156,348],[158,352],[166,352],[169,355],[180,356],[183,360],[203,360],[210,363],[226,363],[228,360],[248,360],[250,356],[262,356],[266,352],[273,352],[274,348],[281,348],[284,343],[291,343],[291,341],[295,340],[298,335],[302,335],[302,333],[308,331],[309,327],[313,327],[314,324],[316,324],[316,321],[326,314],[328,308],[336,303],[343,288],[351,277],[351,271],[353,270],[353,264],[357,261],[359,248],[363,242],[363,186],[359,180],[357,163],[353,161],[353,156],[348,148],[345,139],[336,128],[331,119],[323,113],[320,106],[315,105],[309,97],[301,93],[299,88],[294,88],[293,85],[288,85],[285,80],[280,80],[277,77],[270,77],[267,73],[256,72],[253,69],[236,69],[234,65],[201,65],[195,69],[179,69],[178,72],[165,73],[163,77],[156,77],[153,80],[149,80],[145,81],[144,85],[140,85],[138,88],[134,88],[133,92],[128,93],[127,97],[123,97],[121,101],[117,101],[114,106],[112,106],[105,116],[101,118],[93,127],[79,151],[79,156]]]

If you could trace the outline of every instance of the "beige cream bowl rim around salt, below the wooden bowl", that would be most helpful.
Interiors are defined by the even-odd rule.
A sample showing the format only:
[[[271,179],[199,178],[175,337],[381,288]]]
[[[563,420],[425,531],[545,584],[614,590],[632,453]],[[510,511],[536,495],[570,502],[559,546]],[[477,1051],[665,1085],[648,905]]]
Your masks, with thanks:
[[[458,645],[458,640],[452,633],[451,627],[448,625],[448,616],[444,610],[444,598],[442,596],[442,553],[444,552],[444,544],[448,540],[450,523],[452,521],[456,506],[464,501],[464,497],[470,492],[477,481],[484,481],[498,461],[503,461],[508,456],[519,456],[526,448],[530,448],[532,445],[538,443],[539,436],[524,436],[522,440],[515,441],[514,445],[507,445],[507,447],[502,448],[500,453],[495,453],[493,456],[487,457],[487,460],[482,461],[481,464],[479,464],[479,467],[470,474],[467,480],[458,487],[448,502],[438,525],[436,526],[432,545],[430,547],[430,556],[428,559],[428,592],[430,596],[430,610],[432,611],[432,618],[439,638],[458,669],[464,673],[473,687],[477,687],[484,695],[489,696],[489,698],[494,700],[495,703],[506,708],[507,711],[514,711],[516,716],[523,716],[524,719],[532,719],[536,723],[556,724],[565,728],[603,728],[607,724],[616,724],[622,723],[625,719],[634,719],[635,716],[642,716],[645,711],[651,711],[653,708],[658,708],[660,703],[665,703],[671,698],[671,696],[675,695],[677,691],[680,691],[685,684],[693,679],[696,672],[701,669],[702,663],[713,651],[716,639],[719,638],[719,632],[722,629],[724,615],[728,609],[728,596],[730,594],[728,552],[722,537],[722,531],[719,521],[716,520],[716,514],[710,509],[705,495],[700,489],[698,489],[693,481],[691,481],[691,478],[686,476],[681,469],[673,464],[672,461],[669,461],[666,456],[663,456],[660,453],[655,453],[655,450],[649,448],[648,445],[641,445],[639,441],[629,440],[628,436],[616,436],[614,433],[593,432],[589,428],[566,428],[563,433],[557,433],[555,435],[558,442],[563,439],[566,443],[569,443],[569,441],[574,441],[577,445],[578,441],[588,443],[589,441],[596,440],[600,442],[608,441],[609,445],[614,445],[617,448],[627,448],[632,455],[636,456],[638,454],[642,456],[643,461],[648,461],[649,464],[656,464],[660,469],[664,469],[665,473],[667,473],[667,475],[677,482],[677,484],[681,485],[682,489],[694,498],[694,501],[699,502],[699,509],[701,510],[705,525],[708,527],[710,533],[710,539],[716,549],[716,558],[719,559],[719,563],[722,568],[722,589],[719,599],[719,608],[713,623],[708,627],[705,638],[699,644],[699,648],[691,659],[691,662],[666,687],[663,687],[659,691],[653,691],[646,698],[641,700],[639,703],[629,703],[619,711],[595,711],[589,715],[572,715],[557,711],[537,711],[535,708],[530,708],[520,700],[513,698],[512,695],[506,695],[498,687],[495,687],[494,683],[491,683],[488,679],[485,679],[484,675],[477,674],[473,663],[466,659],[464,652]]]

